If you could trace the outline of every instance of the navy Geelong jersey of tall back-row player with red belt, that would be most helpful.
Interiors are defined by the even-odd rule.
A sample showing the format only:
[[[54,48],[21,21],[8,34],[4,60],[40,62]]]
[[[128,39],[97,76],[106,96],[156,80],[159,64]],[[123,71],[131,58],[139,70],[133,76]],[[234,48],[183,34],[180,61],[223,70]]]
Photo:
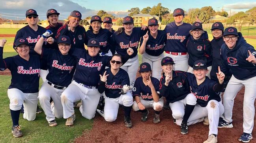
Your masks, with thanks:
[[[187,52],[186,43],[191,29],[192,25],[187,23],[177,26],[175,22],[171,22],[166,25],[164,31],[167,35],[167,41],[164,51]]]

